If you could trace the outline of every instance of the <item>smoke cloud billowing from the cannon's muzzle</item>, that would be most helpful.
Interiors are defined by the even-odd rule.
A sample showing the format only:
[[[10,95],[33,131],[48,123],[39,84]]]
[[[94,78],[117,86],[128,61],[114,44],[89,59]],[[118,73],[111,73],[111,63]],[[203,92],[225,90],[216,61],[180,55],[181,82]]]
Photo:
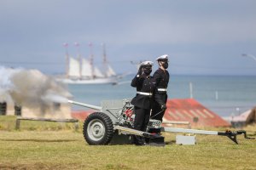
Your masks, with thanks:
[[[0,102],[45,110],[71,97],[61,84],[38,70],[0,67]]]

